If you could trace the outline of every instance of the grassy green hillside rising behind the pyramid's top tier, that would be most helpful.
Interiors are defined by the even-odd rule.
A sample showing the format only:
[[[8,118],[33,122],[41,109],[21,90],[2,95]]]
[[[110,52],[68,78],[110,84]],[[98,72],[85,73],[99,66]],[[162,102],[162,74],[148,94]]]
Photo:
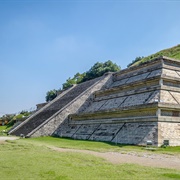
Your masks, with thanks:
[[[152,59],[157,58],[159,56],[167,56],[167,57],[174,58],[174,59],[180,59],[180,44],[178,44],[177,46],[168,48],[168,49],[161,50],[161,51],[159,51],[155,54],[149,55],[147,57],[144,57],[141,60],[132,63],[130,65],[130,67],[139,65],[146,61],[151,61]]]

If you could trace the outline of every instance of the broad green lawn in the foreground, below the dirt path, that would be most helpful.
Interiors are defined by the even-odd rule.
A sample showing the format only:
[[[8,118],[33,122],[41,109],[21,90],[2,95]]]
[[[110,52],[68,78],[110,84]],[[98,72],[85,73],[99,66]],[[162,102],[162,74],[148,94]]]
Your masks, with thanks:
[[[46,139],[47,140],[47,139]],[[179,179],[180,171],[132,164],[114,165],[87,154],[56,152],[38,141],[0,145],[0,179]],[[66,140],[67,141],[67,140]],[[97,146],[97,145],[96,145]]]

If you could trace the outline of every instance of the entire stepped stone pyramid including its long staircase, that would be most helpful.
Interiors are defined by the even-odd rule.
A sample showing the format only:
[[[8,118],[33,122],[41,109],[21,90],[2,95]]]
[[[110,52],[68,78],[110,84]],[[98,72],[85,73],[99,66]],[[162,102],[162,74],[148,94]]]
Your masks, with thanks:
[[[180,146],[180,61],[163,56],[75,85],[9,134]]]

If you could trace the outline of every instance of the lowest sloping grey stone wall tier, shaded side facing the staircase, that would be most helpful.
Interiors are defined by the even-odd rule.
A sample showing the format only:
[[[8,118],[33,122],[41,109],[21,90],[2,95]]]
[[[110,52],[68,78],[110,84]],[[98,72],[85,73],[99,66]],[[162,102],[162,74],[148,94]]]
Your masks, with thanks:
[[[59,127],[54,135],[136,145],[146,145],[150,140],[156,146],[158,145],[158,124],[157,122],[66,124]]]

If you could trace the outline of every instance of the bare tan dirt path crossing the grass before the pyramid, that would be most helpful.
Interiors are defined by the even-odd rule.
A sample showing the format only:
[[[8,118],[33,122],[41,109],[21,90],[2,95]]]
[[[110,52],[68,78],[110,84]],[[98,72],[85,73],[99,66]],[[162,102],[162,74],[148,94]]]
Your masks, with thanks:
[[[180,170],[180,156],[177,155],[166,155],[166,154],[155,154],[155,153],[119,153],[119,152],[95,152],[89,150],[76,150],[76,149],[64,149],[57,147],[49,147],[52,150],[59,152],[77,152],[91,154],[106,159],[108,162],[113,164],[121,163],[133,163],[142,166],[151,166],[159,168],[171,168]]]

